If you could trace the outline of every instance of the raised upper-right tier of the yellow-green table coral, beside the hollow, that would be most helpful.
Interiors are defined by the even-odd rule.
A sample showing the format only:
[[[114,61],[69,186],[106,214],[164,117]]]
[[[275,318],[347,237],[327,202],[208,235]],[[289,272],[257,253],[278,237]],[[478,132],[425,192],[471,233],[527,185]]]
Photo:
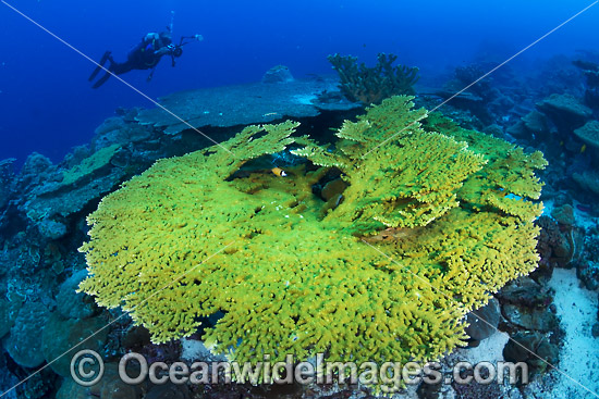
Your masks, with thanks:
[[[328,222],[366,235],[384,227],[424,226],[457,205],[463,180],[486,161],[465,142],[425,132],[418,121],[426,111],[411,107],[407,97],[395,98],[369,109],[357,123],[346,121],[338,133],[342,140],[337,152],[309,144],[294,151],[317,165],[340,169],[351,185]]]

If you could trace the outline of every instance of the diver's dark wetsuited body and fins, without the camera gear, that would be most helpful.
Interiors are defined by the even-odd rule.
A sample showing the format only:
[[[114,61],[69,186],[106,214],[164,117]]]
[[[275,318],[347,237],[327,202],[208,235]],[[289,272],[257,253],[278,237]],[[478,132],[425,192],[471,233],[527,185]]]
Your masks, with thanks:
[[[106,61],[110,61],[108,72],[91,87],[97,89],[98,87],[103,85],[106,80],[108,80],[111,74],[121,75],[133,70],[154,68],[158,64],[158,62],[160,62],[162,55],[169,52],[169,45],[171,45],[170,37],[166,37],[163,35],[160,35],[159,37],[150,37],[150,35],[148,34],[142,40],[142,42],[139,42],[129,52],[127,60],[125,62],[114,61],[110,51],[107,51],[100,60],[99,65],[103,65]],[[96,70],[89,76],[88,80],[94,80],[101,68],[101,66],[96,67]]]

